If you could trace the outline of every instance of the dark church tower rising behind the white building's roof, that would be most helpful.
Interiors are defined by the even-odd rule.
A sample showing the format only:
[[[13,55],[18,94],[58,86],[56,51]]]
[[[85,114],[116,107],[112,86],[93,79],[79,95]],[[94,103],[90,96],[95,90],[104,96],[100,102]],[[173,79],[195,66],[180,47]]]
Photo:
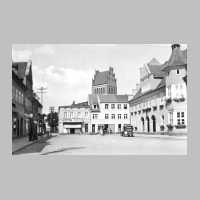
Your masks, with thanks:
[[[95,71],[92,79],[92,94],[117,94],[117,80],[112,67],[108,71]]]

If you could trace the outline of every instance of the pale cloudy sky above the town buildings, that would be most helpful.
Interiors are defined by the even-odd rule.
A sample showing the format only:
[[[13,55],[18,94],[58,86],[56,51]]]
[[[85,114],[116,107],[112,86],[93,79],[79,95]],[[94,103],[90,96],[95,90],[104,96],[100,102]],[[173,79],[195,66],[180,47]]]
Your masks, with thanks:
[[[181,48],[186,48],[181,44]],[[32,60],[33,89],[47,88],[43,112],[49,107],[87,101],[95,70],[111,66],[118,94],[132,94],[139,83],[139,68],[156,58],[167,61],[171,44],[13,44],[12,60]]]

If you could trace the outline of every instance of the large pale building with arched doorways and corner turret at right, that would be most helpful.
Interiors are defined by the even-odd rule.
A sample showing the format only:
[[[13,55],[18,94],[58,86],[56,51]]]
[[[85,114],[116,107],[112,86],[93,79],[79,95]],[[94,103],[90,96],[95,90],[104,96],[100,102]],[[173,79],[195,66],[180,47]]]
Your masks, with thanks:
[[[140,87],[130,100],[130,121],[138,132],[187,132],[187,50],[172,45],[168,61],[140,68]]]

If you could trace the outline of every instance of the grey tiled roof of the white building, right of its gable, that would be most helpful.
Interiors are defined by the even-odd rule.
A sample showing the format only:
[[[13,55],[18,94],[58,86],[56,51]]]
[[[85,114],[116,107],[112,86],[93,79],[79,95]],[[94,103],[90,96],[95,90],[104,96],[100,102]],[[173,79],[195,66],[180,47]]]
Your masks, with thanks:
[[[127,103],[128,95],[107,94],[99,96],[101,103]]]

